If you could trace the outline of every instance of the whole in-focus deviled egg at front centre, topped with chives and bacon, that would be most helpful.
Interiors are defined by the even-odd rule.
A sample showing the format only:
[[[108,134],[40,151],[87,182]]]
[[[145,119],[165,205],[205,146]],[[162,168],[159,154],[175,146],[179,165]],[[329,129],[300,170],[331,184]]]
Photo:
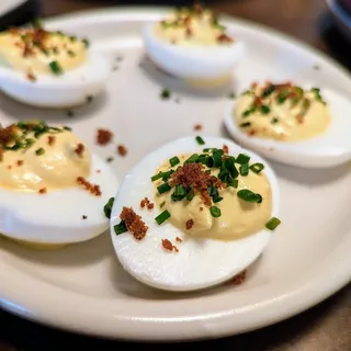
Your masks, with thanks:
[[[215,137],[181,138],[146,156],[112,210],[124,269],[168,291],[200,290],[240,273],[280,224],[278,181],[264,163]]]

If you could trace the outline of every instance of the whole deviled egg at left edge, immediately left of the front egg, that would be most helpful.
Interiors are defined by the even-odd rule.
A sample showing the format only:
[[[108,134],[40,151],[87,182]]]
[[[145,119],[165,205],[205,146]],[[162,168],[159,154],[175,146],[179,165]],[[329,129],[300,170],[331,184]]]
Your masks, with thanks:
[[[109,228],[103,206],[118,183],[68,127],[0,128],[0,233],[32,247],[89,240]]]

